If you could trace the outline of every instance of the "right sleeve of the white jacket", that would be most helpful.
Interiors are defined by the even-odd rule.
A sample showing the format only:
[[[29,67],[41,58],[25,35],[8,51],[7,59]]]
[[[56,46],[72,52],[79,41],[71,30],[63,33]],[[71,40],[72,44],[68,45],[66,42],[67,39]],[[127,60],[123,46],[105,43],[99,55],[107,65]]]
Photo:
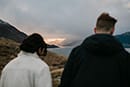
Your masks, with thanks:
[[[52,87],[52,79],[49,67],[45,67],[36,77],[35,87]]]

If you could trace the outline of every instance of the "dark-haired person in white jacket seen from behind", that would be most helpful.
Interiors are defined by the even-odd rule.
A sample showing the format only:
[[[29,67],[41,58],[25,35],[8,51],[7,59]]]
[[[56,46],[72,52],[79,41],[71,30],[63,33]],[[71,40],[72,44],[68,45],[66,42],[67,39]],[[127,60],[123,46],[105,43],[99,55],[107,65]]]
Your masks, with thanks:
[[[0,87],[52,87],[48,65],[39,56],[47,54],[47,44],[34,33],[20,45],[18,57],[3,69]]]

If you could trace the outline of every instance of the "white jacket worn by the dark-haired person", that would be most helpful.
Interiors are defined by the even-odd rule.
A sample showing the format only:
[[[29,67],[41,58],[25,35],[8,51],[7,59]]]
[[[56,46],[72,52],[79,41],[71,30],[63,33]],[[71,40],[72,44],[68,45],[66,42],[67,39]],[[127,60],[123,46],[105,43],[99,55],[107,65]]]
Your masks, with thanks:
[[[0,87],[52,87],[49,67],[36,53],[21,51],[3,69]]]

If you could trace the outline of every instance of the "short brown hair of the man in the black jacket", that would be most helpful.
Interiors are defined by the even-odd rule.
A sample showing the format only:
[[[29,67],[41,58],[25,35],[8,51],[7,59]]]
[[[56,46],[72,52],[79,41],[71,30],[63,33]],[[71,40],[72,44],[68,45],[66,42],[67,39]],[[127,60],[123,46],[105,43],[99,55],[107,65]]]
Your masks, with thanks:
[[[97,18],[96,28],[102,29],[104,31],[109,31],[111,28],[115,26],[117,19],[111,17],[108,13],[102,13]]]

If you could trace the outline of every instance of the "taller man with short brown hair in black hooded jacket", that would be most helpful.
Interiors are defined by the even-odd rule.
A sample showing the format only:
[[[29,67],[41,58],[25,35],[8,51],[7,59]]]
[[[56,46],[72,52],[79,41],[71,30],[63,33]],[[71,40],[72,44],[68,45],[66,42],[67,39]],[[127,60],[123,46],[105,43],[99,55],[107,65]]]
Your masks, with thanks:
[[[59,87],[130,87],[130,54],[112,36],[116,22],[108,13],[98,17],[96,34],[72,50]]]

